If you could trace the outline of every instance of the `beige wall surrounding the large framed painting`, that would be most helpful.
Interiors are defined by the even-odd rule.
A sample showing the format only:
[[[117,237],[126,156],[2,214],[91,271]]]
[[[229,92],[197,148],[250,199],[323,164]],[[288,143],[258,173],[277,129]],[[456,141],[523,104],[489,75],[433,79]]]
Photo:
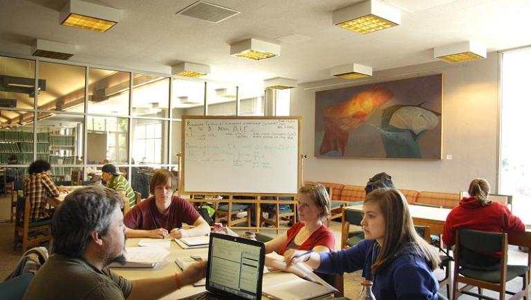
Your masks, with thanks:
[[[443,73],[443,159],[317,159],[314,154],[315,92]],[[339,84],[338,84],[339,83]],[[459,192],[474,177],[497,190],[499,141],[499,56],[460,65],[427,63],[375,72],[354,84],[330,79],[292,90],[292,115],[303,117],[304,180],[364,185],[373,174],[387,172],[398,188]],[[447,160],[450,154],[453,158]]]

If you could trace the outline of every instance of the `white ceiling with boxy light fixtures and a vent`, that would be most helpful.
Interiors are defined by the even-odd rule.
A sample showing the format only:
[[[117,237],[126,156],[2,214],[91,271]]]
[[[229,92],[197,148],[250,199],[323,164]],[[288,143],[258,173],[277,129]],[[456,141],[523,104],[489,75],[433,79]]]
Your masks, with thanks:
[[[0,0],[0,52],[30,54],[35,39],[48,39],[77,45],[70,61],[165,74],[190,61],[211,66],[207,79],[302,83],[330,79],[328,70],[344,63],[374,70],[427,63],[432,48],[460,41],[487,52],[531,44],[530,0],[388,0],[403,9],[402,25],[370,34],[332,23],[333,10],[360,0],[208,0],[241,12],[218,24],[175,14],[195,1],[91,0],[122,10],[120,23],[98,33],[59,25],[65,0]],[[288,34],[295,42],[282,38]],[[280,43],[281,56],[229,55],[230,43],[250,37]]]

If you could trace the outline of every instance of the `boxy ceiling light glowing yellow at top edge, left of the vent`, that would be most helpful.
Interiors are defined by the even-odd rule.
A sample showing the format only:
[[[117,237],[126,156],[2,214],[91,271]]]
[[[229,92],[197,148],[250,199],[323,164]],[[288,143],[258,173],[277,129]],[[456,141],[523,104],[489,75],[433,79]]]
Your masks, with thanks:
[[[79,0],[68,0],[59,13],[64,26],[106,32],[120,21],[120,10]]]

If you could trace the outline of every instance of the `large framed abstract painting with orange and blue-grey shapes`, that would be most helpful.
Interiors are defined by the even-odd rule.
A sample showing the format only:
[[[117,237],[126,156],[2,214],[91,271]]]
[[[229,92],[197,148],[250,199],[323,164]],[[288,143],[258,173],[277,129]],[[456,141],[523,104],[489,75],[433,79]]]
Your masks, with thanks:
[[[440,159],[443,74],[315,92],[315,156]]]

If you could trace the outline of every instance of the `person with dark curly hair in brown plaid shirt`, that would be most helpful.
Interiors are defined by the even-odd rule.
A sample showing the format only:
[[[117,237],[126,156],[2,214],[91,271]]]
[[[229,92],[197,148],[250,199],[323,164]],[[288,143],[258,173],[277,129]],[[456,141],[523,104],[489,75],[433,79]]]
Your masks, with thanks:
[[[44,209],[46,203],[58,207],[61,202],[57,199],[60,192],[68,192],[66,188],[57,188],[50,179],[51,170],[48,161],[33,161],[28,168],[29,177],[24,179],[24,197],[30,201],[30,222],[50,219],[50,214]]]

